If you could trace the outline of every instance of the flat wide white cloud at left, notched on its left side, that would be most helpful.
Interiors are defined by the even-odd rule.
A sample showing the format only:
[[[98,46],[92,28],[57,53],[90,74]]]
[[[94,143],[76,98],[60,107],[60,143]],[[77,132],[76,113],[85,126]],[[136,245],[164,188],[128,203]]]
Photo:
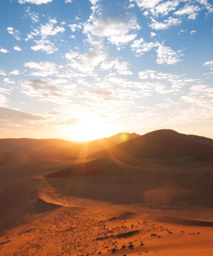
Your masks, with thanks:
[[[53,76],[57,75],[58,70],[55,63],[48,61],[30,61],[24,64],[24,67],[39,70],[32,72],[31,76]]]

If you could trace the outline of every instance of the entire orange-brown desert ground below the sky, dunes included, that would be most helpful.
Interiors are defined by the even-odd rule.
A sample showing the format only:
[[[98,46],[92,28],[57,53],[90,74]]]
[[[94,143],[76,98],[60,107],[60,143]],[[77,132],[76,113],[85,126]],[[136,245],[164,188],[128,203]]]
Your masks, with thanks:
[[[144,136],[0,140],[0,255],[212,255],[213,140]]]

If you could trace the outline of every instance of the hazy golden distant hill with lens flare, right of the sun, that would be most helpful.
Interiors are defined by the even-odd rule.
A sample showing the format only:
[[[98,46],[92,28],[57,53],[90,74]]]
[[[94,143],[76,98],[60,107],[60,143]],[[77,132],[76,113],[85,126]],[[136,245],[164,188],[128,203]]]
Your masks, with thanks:
[[[137,138],[141,135],[136,133],[119,133],[116,135],[113,135],[108,138],[103,138],[99,140],[92,140],[88,143],[83,143],[81,145],[78,145],[75,147],[75,151],[79,152],[79,156],[86,157],[89,154],[92,154],[96,151],[100,151],[109,147],[112,147],[114,145],[118,145],[120,143],[123,143],[124,141],[132,140],[134,138]]]

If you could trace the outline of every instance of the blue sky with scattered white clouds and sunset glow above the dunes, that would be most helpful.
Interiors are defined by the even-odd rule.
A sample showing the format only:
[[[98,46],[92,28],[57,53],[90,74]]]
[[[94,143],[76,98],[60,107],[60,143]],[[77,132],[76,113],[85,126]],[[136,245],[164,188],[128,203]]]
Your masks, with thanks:
[[[213,138],[213,1],[0,1],[0,137]]]

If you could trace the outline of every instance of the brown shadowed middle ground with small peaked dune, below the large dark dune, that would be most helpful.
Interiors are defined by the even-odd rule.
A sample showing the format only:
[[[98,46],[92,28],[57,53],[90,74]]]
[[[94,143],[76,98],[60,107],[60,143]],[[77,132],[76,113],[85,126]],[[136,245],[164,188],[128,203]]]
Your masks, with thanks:
[[[142,168],[113,158],[105,158],[101,165],[100,160],[97,163],[96,169],[92,168],[92,171],[86,171],[83,175],[72,172],[68,176],[64,169],[59,172],[65,174],[64,177],[58,177],[57,173],[56,177],[46,177],[46,181],[64,198],[84,198],[122,205],[139,204],[158,209],[213,207],[209,197],[213,192],[211,167],[195,168],[193,163],[191,167],[187,163],[185,169],[177,169],[175,165],[169,168],[161,165],[156,169],[153,166],[147,168],[147,165]]]

